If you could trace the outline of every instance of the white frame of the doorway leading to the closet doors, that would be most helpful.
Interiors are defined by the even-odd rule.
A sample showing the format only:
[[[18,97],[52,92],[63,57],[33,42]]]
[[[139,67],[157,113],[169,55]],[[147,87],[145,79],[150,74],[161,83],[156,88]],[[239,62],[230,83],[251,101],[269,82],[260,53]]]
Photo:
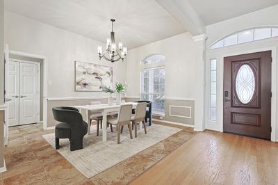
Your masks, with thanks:
[[[14,55],[18,55],[18,56],[26,56],[26,57],[31,57],[31,58],[38,58],[40,60],[42,60],[42,66],[43,66],[43,118],[42,118],[42,122],[43,122],[43,129],[46,130],[47,129],[47,78],[48,78],[48,63],[47,63],[47,57],[46,56],[41,56],[38,54],[30,54],[27,52],[22,52],[22,51],[14,51],[14,50],[8,50],[8,45],[6,45],[6,52],[8,52],[8,54],[14,54]],[[6,61],[6,66],[8,66],[8,61]],[[7,72],[6,72],[7,75]],[[7,76],[6,76],[7,79]],[[7,81],[8,83],[8,81]],[[6,86],[7,87],[7,86]]]

